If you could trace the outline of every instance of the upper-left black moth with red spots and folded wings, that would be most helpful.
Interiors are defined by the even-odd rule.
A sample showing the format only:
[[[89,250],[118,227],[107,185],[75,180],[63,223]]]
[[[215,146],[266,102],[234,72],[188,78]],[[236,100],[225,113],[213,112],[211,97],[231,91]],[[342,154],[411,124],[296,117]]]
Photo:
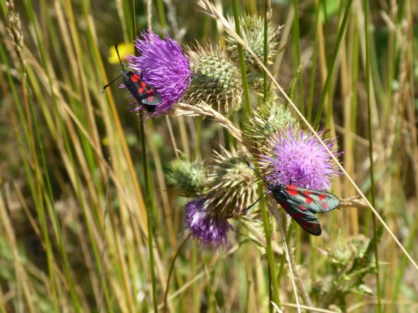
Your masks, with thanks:
[[[134,98],[141,104],[145,110],[148,112],[155,112],[157,105],[161,103],[161,95],[159,95],[154,88],[152,88],[150,85],[144,82],[142,79],[142,73],[141,76],[138,76],[137,73],[134,73],[133,71],[128,71],[124,69],[122,61],[120,59],[119,50],[117,49],[117,45],[115,45],[117,57],[120,61],[120,66],[122,66],[122,73],[120,76],[122,76],[122,81],[126,88],[130,91],[130,93],[134,96]],[[102,93],[105,92],[105,89],[108,88],[108,86],[112,85],[120,76],[117,76],[113,81],[108,83],[108,85],[105,85],[103,87]]]

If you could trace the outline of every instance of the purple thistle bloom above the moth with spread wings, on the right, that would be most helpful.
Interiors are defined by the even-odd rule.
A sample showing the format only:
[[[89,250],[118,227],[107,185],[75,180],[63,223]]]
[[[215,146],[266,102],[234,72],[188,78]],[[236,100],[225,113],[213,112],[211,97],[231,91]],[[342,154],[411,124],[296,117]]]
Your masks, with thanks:
[[[322,134],[320,131],[319,135]],[[324,142],[335,157],[341,155],[333,148],[335,139]],[[324,190],[331,187],[335,175],[341,175],[318,139],[303,131],[296,134],[288,129],[284,134],[273,135],[270,143],[273,157],[262,155],[263,166],[268,167],[266,179],[269,181],[281,184],[291,181],[299,187]]]

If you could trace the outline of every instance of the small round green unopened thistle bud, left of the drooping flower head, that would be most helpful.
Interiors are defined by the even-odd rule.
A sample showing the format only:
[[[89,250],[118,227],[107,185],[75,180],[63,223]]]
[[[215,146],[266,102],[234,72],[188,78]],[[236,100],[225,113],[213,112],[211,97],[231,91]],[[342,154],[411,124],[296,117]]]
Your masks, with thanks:
[[[167,179],[180,195],[196,197],[204,193],[207,177],[202,161],[182,155],[170,162]]]

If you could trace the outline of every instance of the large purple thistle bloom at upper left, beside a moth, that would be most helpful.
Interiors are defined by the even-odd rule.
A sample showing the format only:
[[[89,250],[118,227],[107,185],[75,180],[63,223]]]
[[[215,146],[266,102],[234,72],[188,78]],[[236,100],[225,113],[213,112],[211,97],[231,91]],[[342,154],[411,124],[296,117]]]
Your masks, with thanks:
[[[166,30],[166,39],[161,40],[152,30],[141,33],[143,39],[134,41],[140,57],[127,57],[128,66],[137,73],[144,71],[144,81],[161,95],[162,101],[151,116],[169,111],[182,98],[192,81],[189,61],[180,46],[172,40]],[[132,112],[141,110],[139,103],[134,103]]]

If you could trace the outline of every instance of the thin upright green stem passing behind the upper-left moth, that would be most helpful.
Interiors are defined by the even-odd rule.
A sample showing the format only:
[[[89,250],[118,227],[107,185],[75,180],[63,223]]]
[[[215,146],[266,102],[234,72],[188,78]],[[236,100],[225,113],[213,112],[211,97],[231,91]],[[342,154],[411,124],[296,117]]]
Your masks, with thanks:
[[[131,13],[132,13],[132,30],[133,36],[137,34],[137,23],[135,20],[135,0],[131,0]],[[137,48],[135,48],[135,55],[138,55]],[[156,271],[154,266],[154,252],[153,252],[153,218],[152,218],[152,203],[151,203],[151,189],[149,186],[148,175],[148,163],[146,160],[146,143],[145,143],[145,130],[144,130],[144,112],[139,111],[139,129],[141,133],[141,150],[142,150],[142,165],[144,170],[144,184],[145,184],[145,206],[146,206],[146,225],[148,226],[148,250],[149,250],[149,266],[151,270],[151,283],[152,283],[152,302],[154,312],[158,312],[157,303],[157,287],[156,287]]]

